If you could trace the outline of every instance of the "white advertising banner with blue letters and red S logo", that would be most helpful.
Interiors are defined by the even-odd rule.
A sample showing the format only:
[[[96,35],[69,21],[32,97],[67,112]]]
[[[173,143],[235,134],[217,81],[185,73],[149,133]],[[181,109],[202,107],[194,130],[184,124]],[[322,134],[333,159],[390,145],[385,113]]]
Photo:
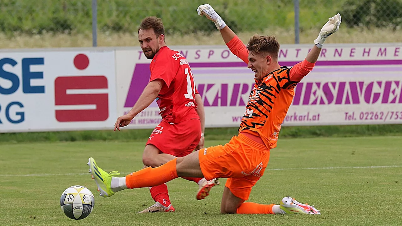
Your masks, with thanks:
[[[115,52],[0,53],[0,132],[113,129]]]

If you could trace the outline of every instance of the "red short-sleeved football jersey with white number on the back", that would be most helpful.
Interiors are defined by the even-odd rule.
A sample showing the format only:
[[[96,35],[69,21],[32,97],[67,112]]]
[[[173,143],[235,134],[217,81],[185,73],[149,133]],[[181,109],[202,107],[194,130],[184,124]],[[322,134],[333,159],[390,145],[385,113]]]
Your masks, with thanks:
[[[164,80],[156,98],[162,119],[178,123],[187,119],[199,119],[193,73],[186,58],[178,51],[164,46],[150,64],[150,81]]]

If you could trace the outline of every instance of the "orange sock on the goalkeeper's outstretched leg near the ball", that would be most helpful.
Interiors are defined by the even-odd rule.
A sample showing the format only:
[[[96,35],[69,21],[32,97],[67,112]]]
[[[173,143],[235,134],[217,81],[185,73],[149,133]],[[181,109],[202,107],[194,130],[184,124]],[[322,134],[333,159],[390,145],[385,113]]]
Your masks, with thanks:
[[[154,187],[178,178],[176,172],[176,158],[162,166],[147,167],[126,176],[126,186],[129,189]]]

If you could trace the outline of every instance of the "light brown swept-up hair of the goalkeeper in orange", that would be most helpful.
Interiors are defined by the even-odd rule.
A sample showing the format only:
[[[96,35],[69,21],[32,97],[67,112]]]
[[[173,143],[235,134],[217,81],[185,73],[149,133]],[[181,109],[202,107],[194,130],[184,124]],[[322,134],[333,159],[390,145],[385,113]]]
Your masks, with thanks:
[[[253,35],[247,44],[247,49],[252,54],[270,53],[272,57],[278,58],[279,42],[275,36]]]

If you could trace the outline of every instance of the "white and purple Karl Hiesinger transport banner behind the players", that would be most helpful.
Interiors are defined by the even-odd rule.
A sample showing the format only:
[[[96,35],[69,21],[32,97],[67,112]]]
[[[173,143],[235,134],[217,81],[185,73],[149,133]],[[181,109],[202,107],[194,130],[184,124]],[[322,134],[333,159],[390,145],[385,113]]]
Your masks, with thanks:
[[[206,127],[237,127],[247,113],[253,72],[226,46],[171,47],[187,58],[205,105]],[[309,45],[282,45],[281,66],[304,60]],[[284,126],[402,123],[402,46],[328,44],[316,67],[296,86]],[[174,57],[174,56],[172,56]],[[117,50],[117,113],[129,111],[146,86],[150,60],[141,49]],[[187,62],[183,62],[187,63]],[[156,102],[129,128],[153,128]]]

